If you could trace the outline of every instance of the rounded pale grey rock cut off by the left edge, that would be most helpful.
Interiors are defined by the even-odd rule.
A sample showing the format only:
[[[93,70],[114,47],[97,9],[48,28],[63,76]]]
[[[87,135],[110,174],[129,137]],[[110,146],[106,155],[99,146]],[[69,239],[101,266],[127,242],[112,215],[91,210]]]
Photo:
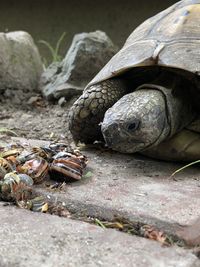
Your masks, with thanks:
[[[0,90],[38,89],[43,64],[27,32],[0,33],[0,55]]]

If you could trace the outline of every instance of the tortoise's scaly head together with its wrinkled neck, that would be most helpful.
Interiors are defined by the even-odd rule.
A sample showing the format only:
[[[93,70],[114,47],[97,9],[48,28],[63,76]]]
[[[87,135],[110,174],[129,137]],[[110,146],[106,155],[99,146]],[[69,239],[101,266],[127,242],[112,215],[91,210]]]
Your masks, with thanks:
[[[119,152],[139,152],[187,126],[195,113],[186,101],[174,97],[177,86],[180,82],[173,75],[161,75],[154,83],[144,84],[118,100],[105,113],[101,125],[107,145]]]

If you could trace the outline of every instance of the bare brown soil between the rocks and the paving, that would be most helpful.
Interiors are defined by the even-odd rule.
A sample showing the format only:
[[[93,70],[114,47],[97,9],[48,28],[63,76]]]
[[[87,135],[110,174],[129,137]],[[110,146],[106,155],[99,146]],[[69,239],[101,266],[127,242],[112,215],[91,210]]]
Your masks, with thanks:
[[[23,95],[22,95],[23,94]],[[14,97],[0,99],[0,129],[6,128],[19,137],[71,144],[67,116],[75,99],[60,106],[45,100],[40,94],[16,92]]]

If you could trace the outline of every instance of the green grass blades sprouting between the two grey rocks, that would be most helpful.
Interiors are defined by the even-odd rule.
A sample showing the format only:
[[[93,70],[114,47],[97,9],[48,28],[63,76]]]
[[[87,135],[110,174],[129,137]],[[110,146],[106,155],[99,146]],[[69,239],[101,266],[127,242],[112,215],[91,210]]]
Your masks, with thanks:
[[[63,32],[62,35],[60,36],[60,38],[58,39],[55,48],[53,48],[53,46],[50,45],[50,43],[48,43],[45,40],[39,40],[38,41],[40,44],[45,45],[49,49],[51,56],[52,56],[52,62],[61,61],[61,56],[59,55],[59,50],[60,50],[60,45],[63,42],[65,35],[66,35],[66,32]],[[46,60],[45,60],[44,64],[46,65]]]

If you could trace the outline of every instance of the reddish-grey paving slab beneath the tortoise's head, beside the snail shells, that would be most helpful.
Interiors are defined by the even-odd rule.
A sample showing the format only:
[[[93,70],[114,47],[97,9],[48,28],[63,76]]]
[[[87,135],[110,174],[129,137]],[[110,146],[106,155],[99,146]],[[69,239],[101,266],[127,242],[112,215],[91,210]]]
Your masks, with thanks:
[[[89,158],[90,178],[68,183],[61,193],[39,191],[79,213],[131,220],[170,228],[188,225],[200,217],[199,169],[188,168],[170,177],[183,164],[96,150],[83,151]],[[87,175],[86,175],[87,176]]]

